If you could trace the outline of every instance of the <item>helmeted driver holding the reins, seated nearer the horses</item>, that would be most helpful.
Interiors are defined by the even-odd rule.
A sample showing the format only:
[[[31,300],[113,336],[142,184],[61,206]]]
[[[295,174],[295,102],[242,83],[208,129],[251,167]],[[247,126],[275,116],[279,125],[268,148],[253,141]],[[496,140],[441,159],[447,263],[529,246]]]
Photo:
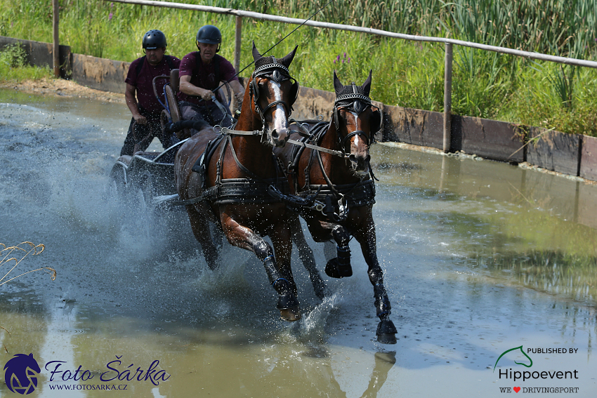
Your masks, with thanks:
[[[220,86],[221,81],[228,81],[235,92],[237,100],[244,97],[244,88],[235,76],[232,64],[221,55],[220,51],[222,34],[220,29],[213,25],[205,25],[197,32],[197,49],[188,53],[181,62],[179,76],[181,77],[178,105],[181,107],[181,116],[185,120],[202,121],[205,127],[229,127],[232,124],[230,109],[218,99],[223,109],[218,107],[212,97],[214,90]],[[193,134],[197,131],[193,130]]]

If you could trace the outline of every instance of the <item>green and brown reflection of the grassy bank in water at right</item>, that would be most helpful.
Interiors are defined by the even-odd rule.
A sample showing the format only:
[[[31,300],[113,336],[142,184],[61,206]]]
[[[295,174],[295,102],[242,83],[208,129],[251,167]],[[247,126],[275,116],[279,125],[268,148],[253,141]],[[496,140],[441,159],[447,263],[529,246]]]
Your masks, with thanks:
[[[586,211],[582,218],[591,227],[576,221],[579,211],[589,207],[581,192],[594,198],[597,187],[581,190],[575,180],[547,178],[492,161],[378,148],[382,153],[391,158],[407,153],[409,161],[401,158],[398,163],[402,173],[388,175],[386,159],[378,174],[431,199],[421,218],[433,215],[440,235],[453,240],[450,253],[462,258],[457,263],[596,304],[597,223]]]

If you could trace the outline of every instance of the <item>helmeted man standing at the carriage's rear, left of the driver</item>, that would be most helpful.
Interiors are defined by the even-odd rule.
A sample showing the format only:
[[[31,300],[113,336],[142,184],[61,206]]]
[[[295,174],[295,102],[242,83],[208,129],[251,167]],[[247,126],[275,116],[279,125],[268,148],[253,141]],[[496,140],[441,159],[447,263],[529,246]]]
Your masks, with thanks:
[[[126,82],[124,98],[133,114],[133,119],[120,151],[121,156],[132,155],[135,145],[138,145],[140,151],[146,150],[155,137],[159,138],[164,149],[176,142],[173,141],[173,135],[162,136],[162,128],[159,124],[162,105],[155,98],[152,82],[157,76],[163,74],[170,76],[170,71],[181,65],[181,60],[165,55],[166,36],[157,29],[152,29],[143,35],[143,52],[145,53],[143,57],[131,62],[129,73],[124,80]],[[156,81],[157,93],[160,93],[162,102],[164,102],[165,83],[163,79]],[[136,122],[134,132],[133,122]]]

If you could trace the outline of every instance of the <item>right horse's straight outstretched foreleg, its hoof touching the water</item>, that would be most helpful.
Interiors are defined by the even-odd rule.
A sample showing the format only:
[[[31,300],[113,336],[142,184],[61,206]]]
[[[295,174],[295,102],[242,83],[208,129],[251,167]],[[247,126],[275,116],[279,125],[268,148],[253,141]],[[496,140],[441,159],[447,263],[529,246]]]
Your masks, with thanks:
[[[373,296],[375,298],[375,308],[377,317],[379,317],[379,324],[377,325],[377,341],[382,344],[395,344],[396,343],[396,327],[393,321],[390,319],[391,305],[386,286],[383,286],[383,270],[379,266],[377,260],[377,247],[376,247],[376,236],[375,236],[375,224],[372,218],[369,219],[366,232],[362,234],[356,234],[355,237],[361,245],[361,251],[365,262],[367,263],[369,274],[369,281],[373,285]]]

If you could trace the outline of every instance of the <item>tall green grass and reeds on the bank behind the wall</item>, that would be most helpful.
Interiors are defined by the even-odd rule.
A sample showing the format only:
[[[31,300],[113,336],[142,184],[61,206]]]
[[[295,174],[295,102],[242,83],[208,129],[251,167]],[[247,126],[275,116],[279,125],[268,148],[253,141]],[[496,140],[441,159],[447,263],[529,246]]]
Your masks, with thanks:
[[[327,0],[178,2],[307,18]],[[132,61],[143,55],[143,34],[161,29],[168,52],[182,58],[195,51],[197,29],[209,23],[223,33],[221,55],[234,58],[235,18],[230,16],[100,0],[62,0],[61,7],[60,42],[74,53]],[[597,51],[596,0],[336,0],[314,19],[589,60]],[[0,0],[0,35],[51,42],[51,20],[51,0]],[[295,27],[244,18],[242,67],[252,61],[251,40],[265,51]],[[333,91],[334,69],[343,82],[357,84],[373,69],[375,100],[443,110],[443,44],[301,27],[273,54],[285,55],[296,44],[291,70],[303,86]],[[454,114],[597,136],[595,69],[454,46],[453,73]]]

